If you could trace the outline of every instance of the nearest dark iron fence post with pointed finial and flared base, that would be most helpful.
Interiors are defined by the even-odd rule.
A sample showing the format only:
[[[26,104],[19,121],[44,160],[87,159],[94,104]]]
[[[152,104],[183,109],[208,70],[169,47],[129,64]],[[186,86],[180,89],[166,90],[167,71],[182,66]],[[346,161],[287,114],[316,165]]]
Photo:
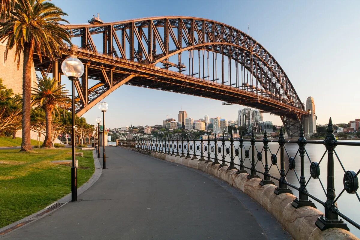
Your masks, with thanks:
[[[323,141],[323,144],[328,150],[328,184],[326,188],[327,200],[324,204],[325,216],[318,217],[315,225],[320,228],[321,231],[333,227],[343,228],[347,231],[350,231],[346,223],[344,223],[342,219],[339,220],[339,215],[334,211],[334,209],[337,209],[337,203],[334,201],[336,198],[334,183],[334,148],[337,145],[337,141],[333,132],[333,122],[330,117],[328,124],[328,134]]]

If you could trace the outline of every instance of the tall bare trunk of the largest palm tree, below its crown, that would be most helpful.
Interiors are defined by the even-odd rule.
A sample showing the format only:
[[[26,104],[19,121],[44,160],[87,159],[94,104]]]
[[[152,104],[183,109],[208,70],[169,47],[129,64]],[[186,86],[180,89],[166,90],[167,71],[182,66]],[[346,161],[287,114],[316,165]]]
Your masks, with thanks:
[[[22,104],[22,141],[21,151],[32,151],[30,142],[30,111],[31,111],[31,68],[33,47],[29,43],[24,44],[23,62],[23,104]]]

